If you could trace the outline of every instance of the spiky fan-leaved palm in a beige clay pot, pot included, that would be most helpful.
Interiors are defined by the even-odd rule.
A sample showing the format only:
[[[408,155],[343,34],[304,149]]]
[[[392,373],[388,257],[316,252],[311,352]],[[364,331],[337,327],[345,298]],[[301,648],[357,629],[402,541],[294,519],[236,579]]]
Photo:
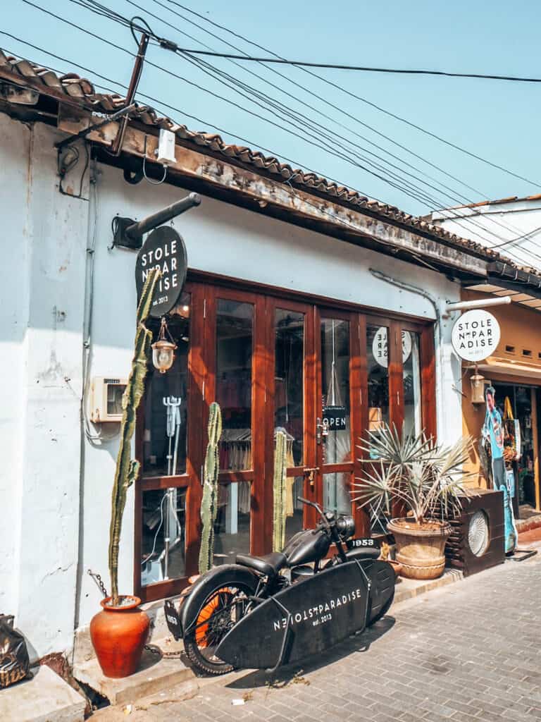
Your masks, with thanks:
[[[445,567],[445,542],[451,533],[449,518],[457,515],[462,500],[472,493],[464,486],[463,471],[472,448],[469,437],[449,447],[433,438],[399,432],[382,425],[370,431],[360,447],[366,467],[354,482],[353,500],[369,507],[374,518],[391,518],[387,531],[395,536],[396,560],[401,575],[410,579],[436,579]]]

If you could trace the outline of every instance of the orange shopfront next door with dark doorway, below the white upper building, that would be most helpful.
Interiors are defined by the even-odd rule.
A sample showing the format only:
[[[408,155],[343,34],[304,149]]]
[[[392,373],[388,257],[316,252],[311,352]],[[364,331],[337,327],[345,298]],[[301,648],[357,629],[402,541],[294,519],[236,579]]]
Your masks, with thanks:
[[[511,291],[511,297],[513,294]],[[499,295],[503,295],[503,291]],[[464,300],[487,297],[472,291],[463,293]],[[537,303],[541,306],[541,301]],[[495,391],[496,408],[503,420],[506,470],[513,472],[514,513],[516,518],[524,518],[533,510],[540,511],[540,312],[519,303],[490,310],[498,319],[501,337],[496,352],[478,364],[478,373],[484,377],[484,388],[492,386]],[[477,444],[485,419],[485,404],[471,401],[468,378],[475,373],[474,365],[462,362],[462,373],[464,432],[476,440],[470,471],[474,472],[478,484],[485,487]]]

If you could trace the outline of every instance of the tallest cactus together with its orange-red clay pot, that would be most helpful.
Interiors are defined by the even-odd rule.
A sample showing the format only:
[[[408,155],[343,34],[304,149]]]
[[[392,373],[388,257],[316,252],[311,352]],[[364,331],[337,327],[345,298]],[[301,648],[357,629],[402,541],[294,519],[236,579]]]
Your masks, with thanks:
[[[122,398],[120,444],[111,499],[109,534],[109,572],[111,596],[102,599],[102,612],[92,617],[90,638],[105,677],[128,677],[139,666],[149,634],[150,619],[138,608],[141,599],[118,593],[118,550],[120,530],[129,487],[137,478],[139,462],[131,458],[131,438],[135,430],[136,411],[144,393],[146,369],[152,333],[146,328],[159,271],[149,272],[137,309],[137,329],[133,346],[131,373]]]

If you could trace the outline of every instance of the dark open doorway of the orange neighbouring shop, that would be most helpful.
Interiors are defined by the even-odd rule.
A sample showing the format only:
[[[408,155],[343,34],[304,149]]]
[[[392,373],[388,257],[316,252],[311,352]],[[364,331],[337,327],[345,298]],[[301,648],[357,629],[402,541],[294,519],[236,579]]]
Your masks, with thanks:
[[[537,400],[540,389],[537,386],[499,381],[494,381],[493,387],[502,419],[507,398],[514,418],[519,421],[521,454],[513,464],[516,487],[513,506],[517,518],[522,518],[527,515],[529,508],[535,510],[539,503],[536,490],[539,488]]]

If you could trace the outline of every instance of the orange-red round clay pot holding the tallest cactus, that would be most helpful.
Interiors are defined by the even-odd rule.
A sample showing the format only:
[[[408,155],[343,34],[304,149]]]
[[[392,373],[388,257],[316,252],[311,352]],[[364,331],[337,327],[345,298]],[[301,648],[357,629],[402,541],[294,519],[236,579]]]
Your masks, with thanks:
[[[92,617],[90,638],[105,677],[118,679],[137,671],[150,619],[138,609],[141,599],[137,596],[121,597],[130,600],[123,606],[108,606],[110,599],[102,599],[102,612]]]

